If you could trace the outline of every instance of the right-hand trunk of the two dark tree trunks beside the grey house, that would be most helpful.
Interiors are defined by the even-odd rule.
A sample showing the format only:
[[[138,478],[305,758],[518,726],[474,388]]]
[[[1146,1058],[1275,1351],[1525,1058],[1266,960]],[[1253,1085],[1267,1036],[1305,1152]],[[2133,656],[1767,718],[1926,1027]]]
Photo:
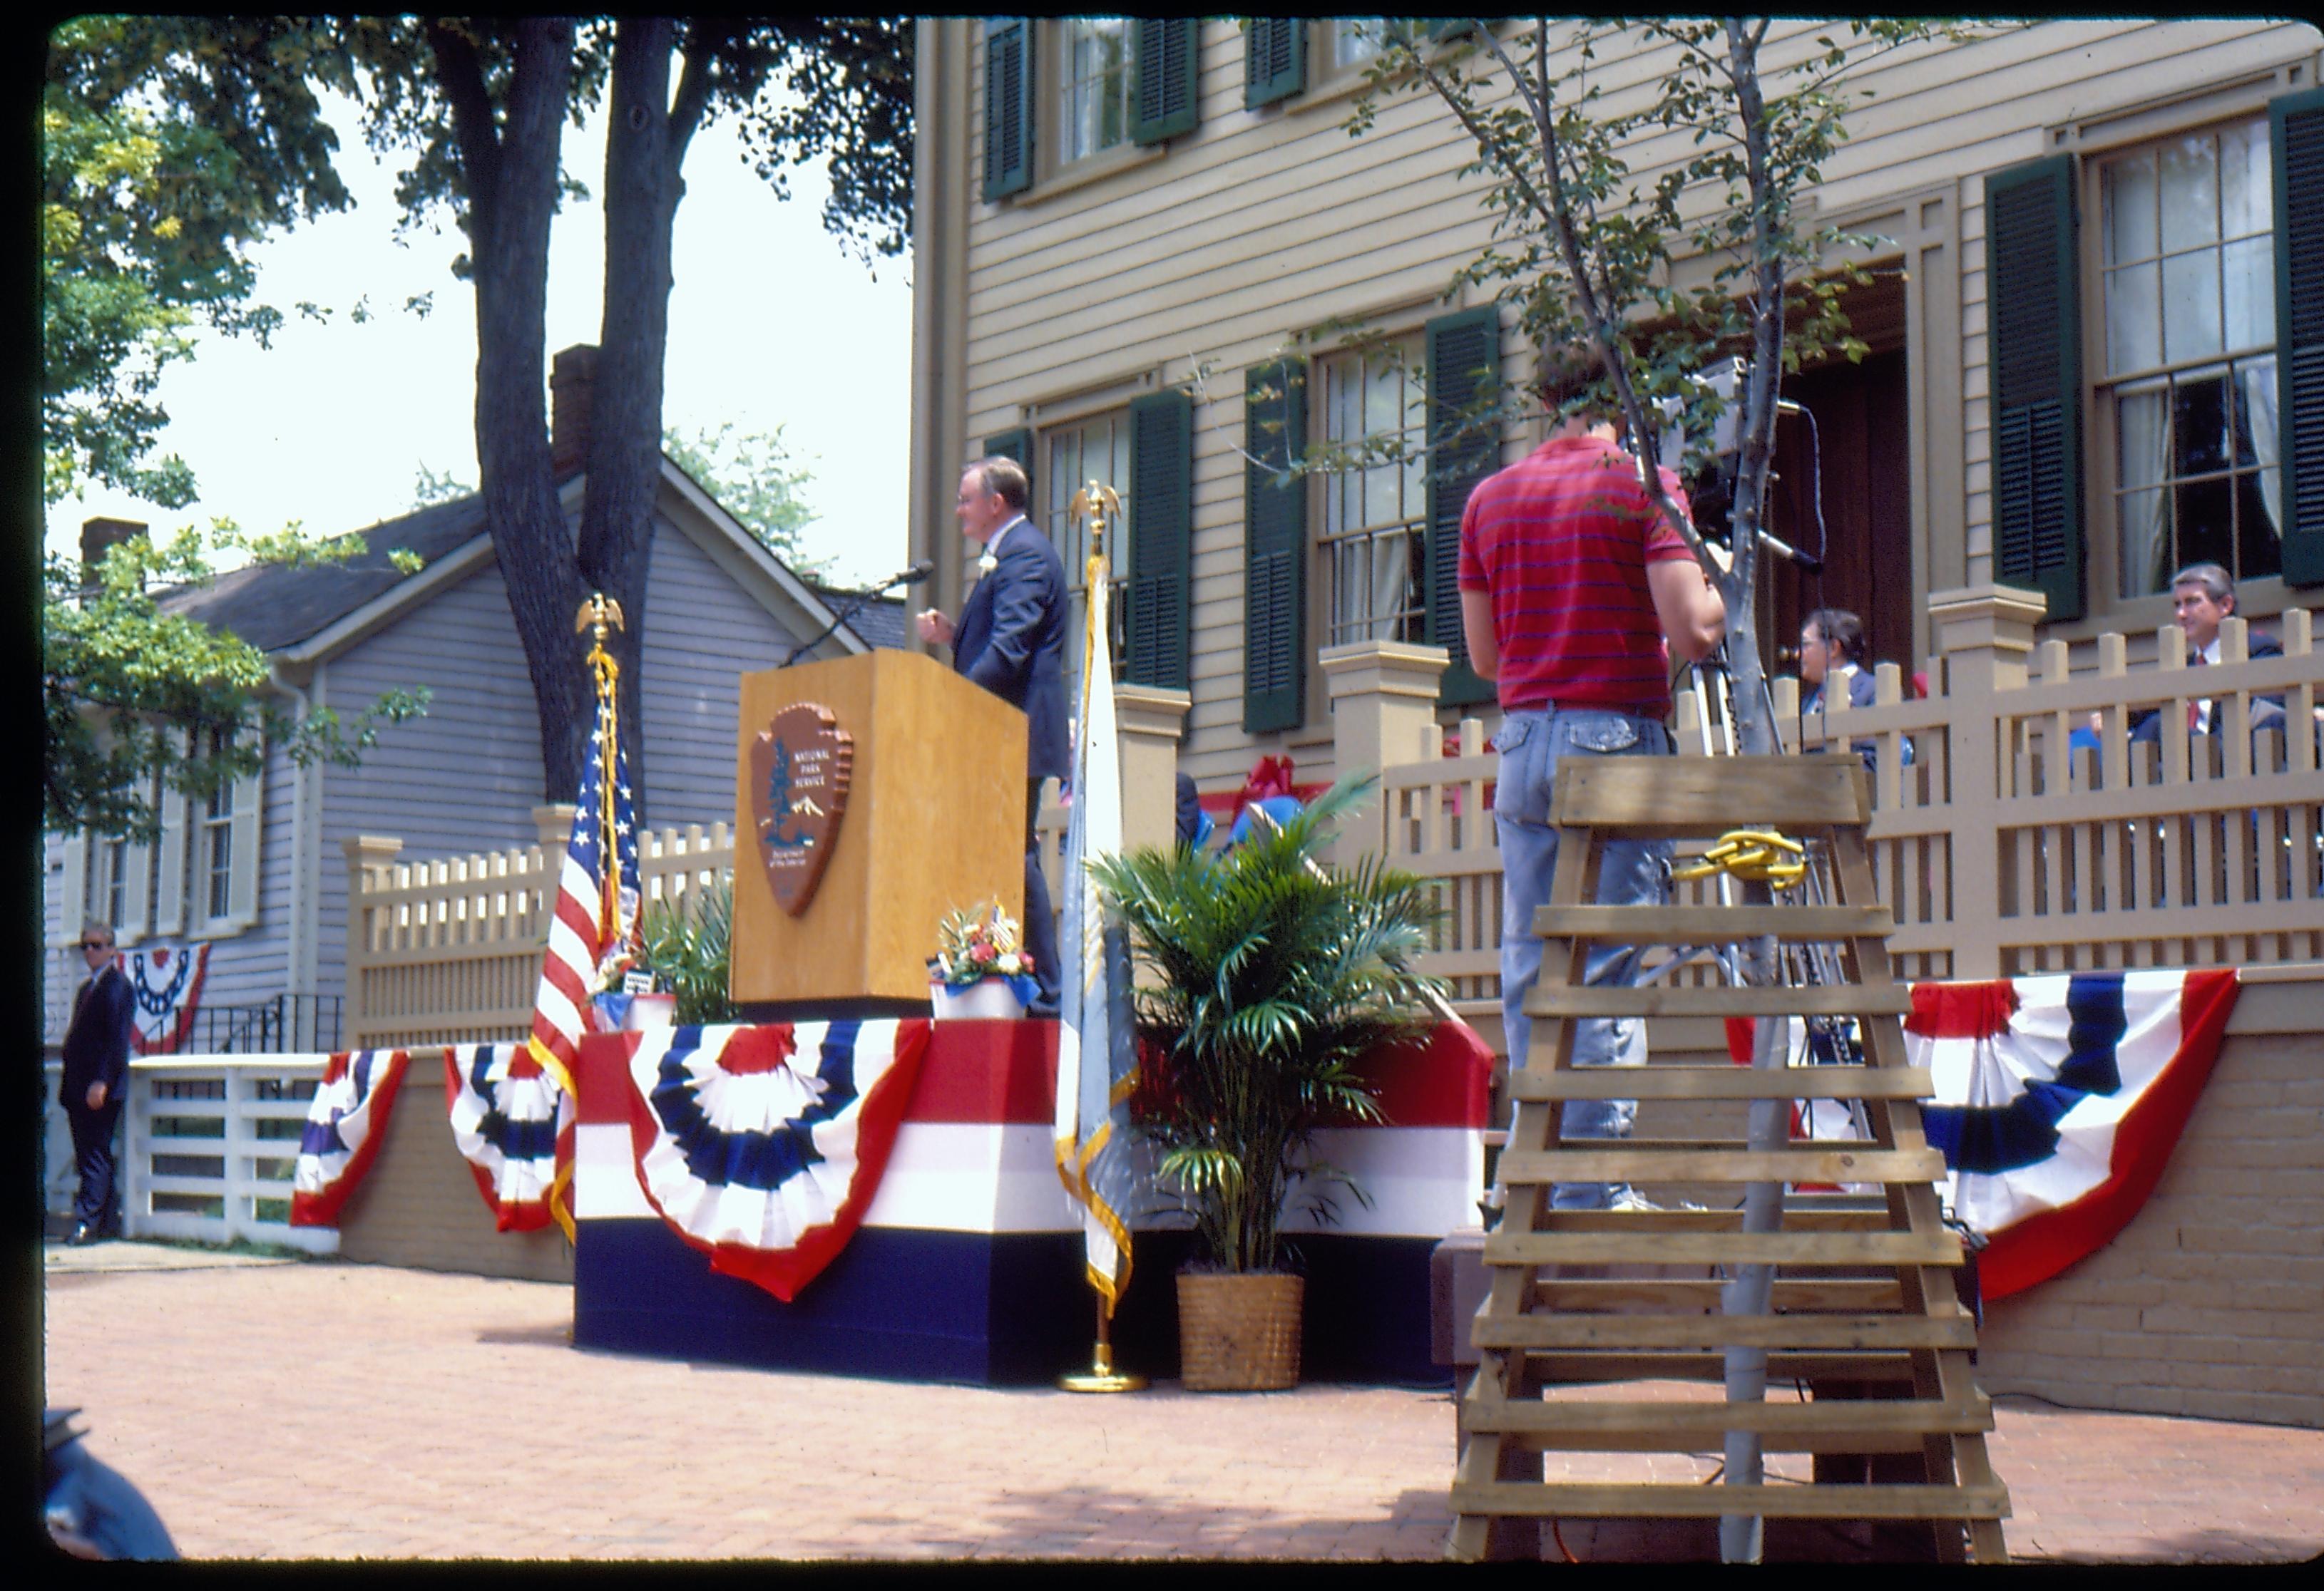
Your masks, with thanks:
[[[669,114],[674,26],[621,21],[604,142],[604,321],[590,397],[588,495],[581,506],[581,576],[621,602],[627,627],[609,641],[621,660],[623,746],[637,822],[646,822],[646,736],[639,732],[639,657],[653,499],[662,478],[662,355],[669,346],[669,253],[686,142]]]

